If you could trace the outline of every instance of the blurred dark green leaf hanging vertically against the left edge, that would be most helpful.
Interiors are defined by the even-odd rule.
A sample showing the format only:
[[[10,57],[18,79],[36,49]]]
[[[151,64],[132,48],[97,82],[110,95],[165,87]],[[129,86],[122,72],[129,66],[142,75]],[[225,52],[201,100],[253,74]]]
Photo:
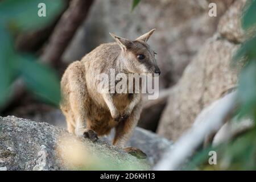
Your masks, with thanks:
[[[0,27],[0,106],[9,96],[11,82],[14,80],[14,49],[11,37],[3,27]]]

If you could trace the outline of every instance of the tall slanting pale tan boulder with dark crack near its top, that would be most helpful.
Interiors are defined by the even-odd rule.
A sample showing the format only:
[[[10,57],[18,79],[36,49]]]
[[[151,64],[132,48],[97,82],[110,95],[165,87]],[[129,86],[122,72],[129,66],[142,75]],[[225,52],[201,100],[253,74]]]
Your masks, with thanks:
[[[238,22],[245,2],[237,0],[233,3],[222,16],[216,34],[185,69],[169,96],[158,134],[176,140],[192,126],[204,107],[236,86],[237,70],[230,67],[230,62],[240,46],[238,43],[243,40]]]

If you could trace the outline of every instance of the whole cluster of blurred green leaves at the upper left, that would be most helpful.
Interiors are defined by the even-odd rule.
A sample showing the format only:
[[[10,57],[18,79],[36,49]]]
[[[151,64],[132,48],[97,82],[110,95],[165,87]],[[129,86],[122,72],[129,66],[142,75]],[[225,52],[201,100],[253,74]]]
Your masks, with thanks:
[[[38,4],[46,4],[46,17],[38,16]],[[14,49],[14,36],[50,23],[61,12],[62,0],[6,0],[0,2],[0,106],[4,105],[11,84],[22,76],[28,88],[43,100],[57,105],[60,100],[59,79],[52,69],[41,65],[33,56],[20,55]]]

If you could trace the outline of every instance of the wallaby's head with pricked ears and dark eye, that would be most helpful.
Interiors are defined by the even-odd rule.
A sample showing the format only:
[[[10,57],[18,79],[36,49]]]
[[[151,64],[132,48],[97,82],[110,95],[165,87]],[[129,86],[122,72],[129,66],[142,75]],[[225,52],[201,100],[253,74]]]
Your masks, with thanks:
[[[111,34],[121,47],[121,69],[129,73],[158,73],[160,69],[155,60],[155,52],[148,46],[147,40],[155,29],[139,36],[136,40],[128,40]]]

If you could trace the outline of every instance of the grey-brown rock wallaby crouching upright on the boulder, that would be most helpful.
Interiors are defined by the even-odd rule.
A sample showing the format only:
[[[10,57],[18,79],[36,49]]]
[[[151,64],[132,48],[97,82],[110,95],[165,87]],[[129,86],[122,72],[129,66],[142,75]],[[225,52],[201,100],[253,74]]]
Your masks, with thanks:
[[[109,134],[115,128],[113,144],[124,147],[142,110],[141,93],[99,93],[97,75],[117,73],[160,74],[155,52],[146,43],[155,29],[136,40],[114,34],[114,43],[101,44],[81,61],[69,65],[61,79],[60,108],[70,133],[97,140],[97,135]],[[109,90],[108,90],[109,91]],[[125,148],[136,152],[137,148]]]

